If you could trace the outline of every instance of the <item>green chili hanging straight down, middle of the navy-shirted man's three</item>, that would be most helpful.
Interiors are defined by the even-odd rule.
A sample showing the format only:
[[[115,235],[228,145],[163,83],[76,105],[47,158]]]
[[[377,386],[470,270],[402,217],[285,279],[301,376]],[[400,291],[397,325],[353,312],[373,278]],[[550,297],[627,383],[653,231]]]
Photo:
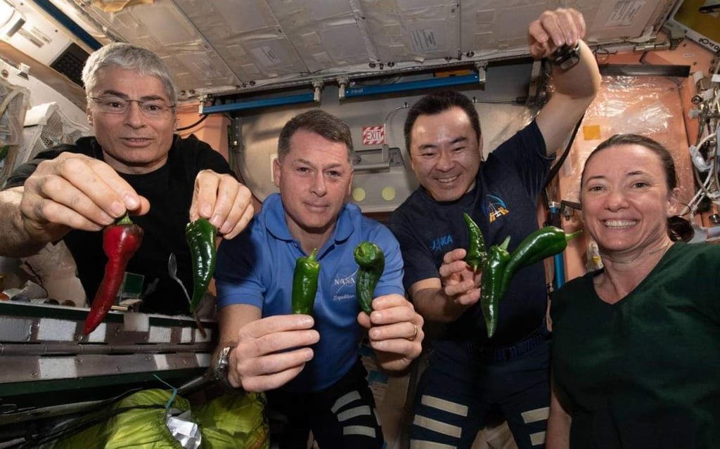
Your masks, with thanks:
[[[480,307],[482,317],[485,318],[488,338],[495,334],[495,329],[498,327],[498,302],[503,293],[503,272],[508,260],[510,260],[508,243],[510,243],[509,236],[505,237],[505,240],[499,246],[492,245],[490,247],[490,256],[482,266]]]

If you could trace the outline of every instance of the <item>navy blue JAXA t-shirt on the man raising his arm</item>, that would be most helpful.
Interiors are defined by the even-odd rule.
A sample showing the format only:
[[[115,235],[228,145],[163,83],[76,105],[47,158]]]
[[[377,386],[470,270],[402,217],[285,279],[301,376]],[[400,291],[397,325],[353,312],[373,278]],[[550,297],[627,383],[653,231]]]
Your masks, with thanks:
[[[418,188],[393,212],[388,226],[400,242],[405,263],[405,289],[427,278],[439,278],[445,253],[468,248],[462,218],[467,212],[480,226],[485,245],[500,245],[510,236],[512,251],[538,229],[538,197],[552,164],[535,122],[503,142],[480,165],[474,189],[456,201],[438,202]],[[482,346],[516,343],[536,330],[545,317],[547,291],[541,262],[521,269],[500,301],[498,329],[487,339],[480,304],[467,309],[446,337],[475,341]]]

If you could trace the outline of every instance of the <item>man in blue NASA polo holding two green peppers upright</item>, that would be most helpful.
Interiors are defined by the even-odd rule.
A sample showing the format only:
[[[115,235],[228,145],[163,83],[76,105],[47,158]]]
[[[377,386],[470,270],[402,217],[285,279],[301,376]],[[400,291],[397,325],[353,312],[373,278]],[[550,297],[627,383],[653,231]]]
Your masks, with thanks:
[[[274,443],[305,448],[382,448],[374,399],[359,358],[367,330],[379,366],[402,371],[418,357],[423,319],[405,299],[400,247],[390,230],[347,204],[353,167],[350,130],[312,110],[280,132],[270,195],[245,232],[222,242],[215,278],[221,346],[230,347],[228,381],[267,391],[287,423]],[[360,312],[353,251],[379,245],[385,270],[373,312]],[[313,316],[291,314],[297,258],[318,248]],[[233,348],[234,347],[234,348]]]

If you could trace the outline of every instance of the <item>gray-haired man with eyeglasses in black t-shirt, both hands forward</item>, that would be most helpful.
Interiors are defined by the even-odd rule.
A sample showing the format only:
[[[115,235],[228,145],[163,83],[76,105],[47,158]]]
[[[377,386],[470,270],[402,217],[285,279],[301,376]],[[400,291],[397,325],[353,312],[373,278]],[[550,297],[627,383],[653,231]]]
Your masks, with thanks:
[[[50,148],[8,178],[0,255],[24,257],[64,240],[92,299],[107,261],[99,231],[130,212],[145,231],[126,273],[142,280],[142,310],[187,314],[184,293],[168,276],[174,254],[177,275],[192,288],[186,223],[210,219],[231,239],[253,217],[251,193],[210,145],[174,134],[176,89],[154,53],[106,45],[86,61],[83,82],[95,135]]]

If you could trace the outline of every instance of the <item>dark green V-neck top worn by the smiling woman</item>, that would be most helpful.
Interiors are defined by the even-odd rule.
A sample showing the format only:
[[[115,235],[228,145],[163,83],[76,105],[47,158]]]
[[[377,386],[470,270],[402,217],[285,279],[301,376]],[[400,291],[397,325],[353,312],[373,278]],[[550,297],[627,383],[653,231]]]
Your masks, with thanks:
[[[616,304],[597,274],[552,300],[570,447],[720,448],[720,245],[676,242]]]

